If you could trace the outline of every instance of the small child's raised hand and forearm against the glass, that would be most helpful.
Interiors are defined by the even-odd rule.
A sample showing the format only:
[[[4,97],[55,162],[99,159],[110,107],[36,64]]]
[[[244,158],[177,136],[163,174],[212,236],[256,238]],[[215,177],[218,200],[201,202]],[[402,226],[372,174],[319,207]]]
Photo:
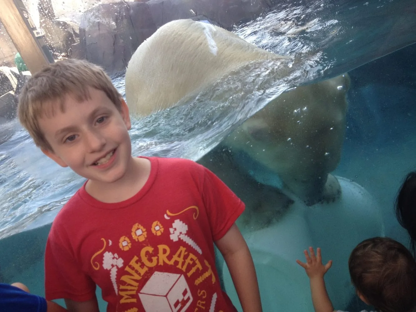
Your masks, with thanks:
[[[324,275],[331,267],[332,260],[323,265],[320,248],[317,248],[316,256],[312,247],[309,248],[309,252],[310,256],[307,250],[304,251],[306,263],[299,260],[296,260],[296,262],[305,269],[309,277],[313,307],[315,312],[333,312],[334,307],[329,299],[324,281]]]

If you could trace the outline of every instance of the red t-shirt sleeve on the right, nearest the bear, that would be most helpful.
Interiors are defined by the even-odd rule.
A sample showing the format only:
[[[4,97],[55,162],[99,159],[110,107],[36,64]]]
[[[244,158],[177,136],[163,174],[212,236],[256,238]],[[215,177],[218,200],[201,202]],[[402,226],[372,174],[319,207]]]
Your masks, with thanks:
[[[214,241],[228,232],[245,208],[240,198],[207,168],[204,168],[203,201]]]

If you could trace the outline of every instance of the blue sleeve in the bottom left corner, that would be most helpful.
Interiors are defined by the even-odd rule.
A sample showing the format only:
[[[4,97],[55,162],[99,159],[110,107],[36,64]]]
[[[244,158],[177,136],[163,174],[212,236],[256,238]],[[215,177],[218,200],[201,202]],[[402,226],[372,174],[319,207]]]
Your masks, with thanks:
[[[47,312],[45,298],[0,283],[1,312]]]

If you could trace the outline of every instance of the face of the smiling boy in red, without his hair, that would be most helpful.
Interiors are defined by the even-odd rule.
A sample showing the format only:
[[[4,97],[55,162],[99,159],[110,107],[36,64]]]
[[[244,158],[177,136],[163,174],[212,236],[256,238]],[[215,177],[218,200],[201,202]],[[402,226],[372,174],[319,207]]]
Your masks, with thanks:
[[[42,150],[60,166],[69,166],[92,181],[112,183],[124,176],[131,163],[129,109],[121,112],[100,90],[89,88],[91,99],[65,97],[64,112],[43,116],[39,126],[52,151]]]

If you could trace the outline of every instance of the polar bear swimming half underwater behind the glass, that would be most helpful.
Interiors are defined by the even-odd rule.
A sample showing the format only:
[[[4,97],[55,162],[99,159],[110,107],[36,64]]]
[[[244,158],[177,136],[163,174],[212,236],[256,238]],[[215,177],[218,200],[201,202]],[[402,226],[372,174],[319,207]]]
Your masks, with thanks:
[[[132,114],[146,116],[186,102],[249,63],[283,64],[288,59],[209,23],[175,20],[160,27],[131,57],[127,105]],[[285,77],[285,68],[273,79]],[[348,76],[341,75],[294,88],[245,121],[223,141],[240,172],[307,205],[336,200],[339,184],[329,173],[340,158],[348,86]],[[208,167],[220,173],[222,166]]]

